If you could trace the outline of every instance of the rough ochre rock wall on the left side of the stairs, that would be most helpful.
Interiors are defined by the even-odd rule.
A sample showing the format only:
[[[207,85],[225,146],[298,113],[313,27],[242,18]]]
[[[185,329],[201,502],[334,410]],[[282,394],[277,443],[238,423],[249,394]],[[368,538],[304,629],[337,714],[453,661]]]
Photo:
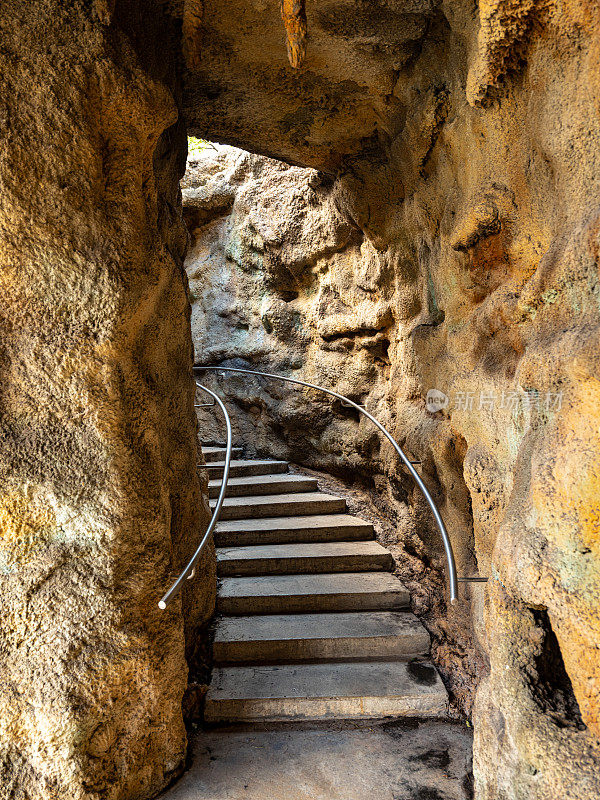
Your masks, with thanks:
[[[158,3],[2,4],[2,798],[146,798],[185,756],[184,620],[157,607],[206,520],[177,46]]]

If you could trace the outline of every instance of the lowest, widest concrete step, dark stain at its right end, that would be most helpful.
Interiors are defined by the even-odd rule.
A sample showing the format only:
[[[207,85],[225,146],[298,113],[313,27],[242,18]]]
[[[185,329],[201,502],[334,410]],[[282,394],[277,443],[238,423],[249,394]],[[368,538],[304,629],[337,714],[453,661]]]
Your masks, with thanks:
[[[428,662],[220,667],[207,722],[444,717],[448,698]]]

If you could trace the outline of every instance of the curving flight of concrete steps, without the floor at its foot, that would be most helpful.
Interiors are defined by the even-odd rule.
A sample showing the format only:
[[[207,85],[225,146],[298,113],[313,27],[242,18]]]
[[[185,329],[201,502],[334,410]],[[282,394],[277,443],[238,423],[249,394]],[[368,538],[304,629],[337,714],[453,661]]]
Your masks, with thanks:
[[[203,452],[214,505],[225,451]],[[429,635],[373,526],[285,461],[233,459],[206,721],[445,716]]]

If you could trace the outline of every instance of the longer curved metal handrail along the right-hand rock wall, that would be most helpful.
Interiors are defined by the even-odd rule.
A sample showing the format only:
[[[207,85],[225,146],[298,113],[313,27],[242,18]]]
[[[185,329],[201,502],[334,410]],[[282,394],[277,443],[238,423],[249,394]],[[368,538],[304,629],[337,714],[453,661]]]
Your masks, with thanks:
[[[429,493],[428,488],[423,483],[423,481],[421,479],[421,476],[419,475],[419,473],[413,467],[413,465],[410,462],[410,459],[408,458],[408,456],[404,453],[404,451],[402,450],[402,448],[400,447],[398,442],[394,439],[392,434],[386,428],[384,428],[384,426],[381,424],[381,422],[379,422],[379,420],[377,420],[372,414],[369,414],[369,412],[367,411],[366,408],[363,408],[362,406],[359,406],[358,403],[354,403],[352,400],[350,400],[350,398],[344,397],[344,395],[342,395],[342,394],[338,394],[337,392],[333,392],[331,389],[325,389],[323,386],[317,386],[314,383],[307,383],[306,381],[299,381],[296,378],[287,378],[287,377],[284,377],[283,375],[275,375],[275,374],[273,374],[271,372],[257,372],[256,370],[240,369],[239,367],[221,367],[221,366],[214,366],[214,365],[203,366],[203,365],[200,365],[200,364],[194,365],[194,369],[195,370],[201,370],[201,371],[214,370],[215,372],[219,372],[219,371],[222,371],[222,372],[241,372],[241,373],[244,373],[246,375],[258,375],[261,378],[276,378],[277,380],[285,381],[286,383],[294,383],[294,384],[296,384],[298,386],[305,386],[308,389],[317,389],[319,392],[325,392],[325,394],[329,394],[332,397],[336,397],[338,400],[341,400],[344,404],[346,404],[348,406],[351,406],[352,408],[355,408],[357,411],[359,411],[361,414],[364,414],[365,417],[367,417],[367,419],[370,419],[371,422],[377,428],[379,428],[381,433],[383,433],[383,435],[392,444],[392,446],[394,447],[394,449],[396,450],[396,452],[398,453],[398,455],[400,456],[400,458],[404,462],[404,465],[406,466],[406,468],[410,472],[413,480],[415,481],[415,483],[417,484],[419,489],[423,492],[423,495],[425,496],[425,499],[427,500],[429,508],[431,509],[431,512],[432,512],[432,514],[433,514],[433,516],[435,518],[435,521],[437,523],[437,526],[439,528],[439,531],[440,531],[440,533],[442,535],[442,542],[444,544],[444,552],[446,554],[446,562],[448,564],[448,590],[449,590],[449,595],[450,595],[450,602],[452,604],[456,603],[456,601],[458,599],[458,577],[457,577],[457,574],[456,574],[456,562],[454,560],[454,552],[452,550],[452,544],[450,542],[450,537],[448,536],[448,531],[446,530],[446,526],[444,525],[444,520],[442,519],[442,516],[441,516],[440,512],[438,511],[438,508],[437,508],[437,506],[436,506],[436,504],[435,504],[435,502],[433,500],[433,497]]]

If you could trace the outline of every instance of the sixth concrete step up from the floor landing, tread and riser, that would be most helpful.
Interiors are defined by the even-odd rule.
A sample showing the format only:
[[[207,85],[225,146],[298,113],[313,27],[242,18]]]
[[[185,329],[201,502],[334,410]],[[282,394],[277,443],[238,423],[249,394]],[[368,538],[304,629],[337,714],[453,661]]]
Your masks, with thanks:
[[[215,503],[216,500],[210,501],[212,508]],[[221,519],[339,514],[345,510],[346,501],[343,498],[333,497],[323,492],[226,497],[221,508]]]

